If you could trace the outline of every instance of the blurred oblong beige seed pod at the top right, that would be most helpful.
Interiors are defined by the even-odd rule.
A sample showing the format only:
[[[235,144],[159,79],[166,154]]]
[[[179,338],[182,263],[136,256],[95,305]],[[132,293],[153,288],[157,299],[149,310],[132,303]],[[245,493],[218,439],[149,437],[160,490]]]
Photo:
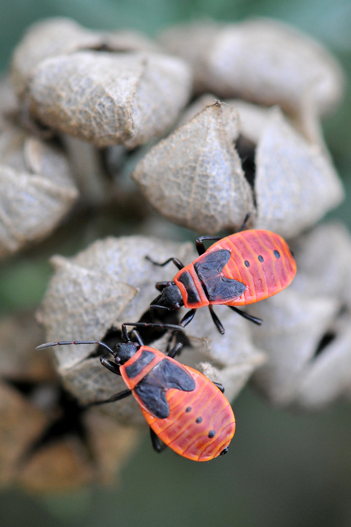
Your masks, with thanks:
[[[161,41],[193,65],[198,92],[279,104],[292,113],[308,96],[323,114],[343,91],[335,59],[312,38],[274,20],[187,24],[171,27]]]

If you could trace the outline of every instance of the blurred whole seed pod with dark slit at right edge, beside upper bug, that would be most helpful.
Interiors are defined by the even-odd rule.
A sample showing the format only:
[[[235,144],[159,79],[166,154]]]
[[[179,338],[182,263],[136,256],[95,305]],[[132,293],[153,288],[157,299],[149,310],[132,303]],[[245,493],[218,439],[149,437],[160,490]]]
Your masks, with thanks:
[[[264,319],[254,339],[268,357],[254,380],[272,402],[312,409],[350,390],[351,239],[342,226],[322,225],[293,248],[292,285],[252,306]]]

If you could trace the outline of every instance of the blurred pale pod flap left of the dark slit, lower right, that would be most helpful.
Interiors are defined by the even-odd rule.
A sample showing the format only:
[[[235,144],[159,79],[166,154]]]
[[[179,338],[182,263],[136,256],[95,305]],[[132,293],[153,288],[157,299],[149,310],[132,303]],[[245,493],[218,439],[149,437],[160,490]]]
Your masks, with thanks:
[[[262,328],[252,328],[254,342],[267,354],[267,362],[253,378],[269,401],[280,405],[294,401],[304,369],[338,310],[336,299],[298,294],[293,285],[253,306],[252,313],[264,318]]]

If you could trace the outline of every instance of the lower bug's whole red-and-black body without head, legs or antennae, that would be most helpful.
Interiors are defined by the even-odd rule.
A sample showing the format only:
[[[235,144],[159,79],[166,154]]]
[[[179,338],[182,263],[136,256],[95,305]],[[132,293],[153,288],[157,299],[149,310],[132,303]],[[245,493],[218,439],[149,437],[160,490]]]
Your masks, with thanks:
[[[166,366],[171,363],[170,370],[164,367],[165,362]],[[167,375],[163,376],[165,371]],[[229,445],[235,432],[232,407],[205,375],[148,346],[139,348],[120,367],[120,372],[149,426],[177,454],[194,461],[208,461]],[[167,387],[167,383],[174,385],[178,380],[181,389]],[[139,388],[144,385],[143,400]],[[157,390],[159,398],[155,396]],[[164,396],[168,415],[160,418],[155,413],[164,411]],[[155,408],[154,413],[150,407]]]

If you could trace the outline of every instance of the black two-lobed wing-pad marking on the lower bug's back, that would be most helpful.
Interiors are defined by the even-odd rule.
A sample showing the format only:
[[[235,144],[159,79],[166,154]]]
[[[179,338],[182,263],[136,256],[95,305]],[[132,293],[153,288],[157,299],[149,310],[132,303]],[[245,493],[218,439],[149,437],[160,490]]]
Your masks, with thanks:
[[[180,364],[174,364],[165,357],[134,389],[151,414],[165,419],[169,415],[166,391],[177,388],[183,392],[192,392],[195,387],[193,377]]]

